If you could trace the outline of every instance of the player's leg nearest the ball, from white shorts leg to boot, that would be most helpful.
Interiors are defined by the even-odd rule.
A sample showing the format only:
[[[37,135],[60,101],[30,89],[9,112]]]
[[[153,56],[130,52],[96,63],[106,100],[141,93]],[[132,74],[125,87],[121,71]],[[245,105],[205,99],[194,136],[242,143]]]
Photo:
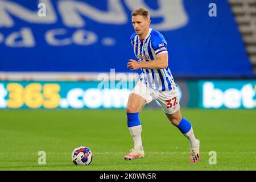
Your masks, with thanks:
[[[139,120],[139,112],[147,103],[151,101],[152,98],[148,93],[146,85],[144,85],[142,82],[138,82],[131,92],[126,106],[127,126],[131,137],[133,137],[134,148],[132,148],[129,153],[124,156],[125,159],[131,160],[144,157],[141,138],[142,126],[141,121]]]

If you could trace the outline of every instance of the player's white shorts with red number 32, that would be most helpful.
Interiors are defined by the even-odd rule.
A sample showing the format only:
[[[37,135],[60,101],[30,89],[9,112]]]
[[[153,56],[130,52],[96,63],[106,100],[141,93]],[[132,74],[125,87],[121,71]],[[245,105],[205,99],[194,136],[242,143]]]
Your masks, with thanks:
[[[137,85],[131,90],[131,93],[138,94],[147,104],[152,100],[157,100],[162,106],[163,110],[167,114],[175,113],[180,109],[179,100],[177,98],[177,87],[172,86],[171,90],[159,91],[152,88],[149,88],[144,82],[139,80]]]

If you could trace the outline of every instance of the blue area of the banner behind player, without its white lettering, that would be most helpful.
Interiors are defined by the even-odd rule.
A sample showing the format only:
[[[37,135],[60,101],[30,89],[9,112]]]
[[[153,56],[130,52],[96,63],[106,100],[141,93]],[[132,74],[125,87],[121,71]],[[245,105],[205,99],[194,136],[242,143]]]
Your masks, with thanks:
[[[37,1],[6,0],[5,4],[2,3],[5,10],[0,8],[0,11],[5,11],[14,24],[6,27],[6,24],[3,23],[6,19],[0,17],[2,20],[0,21],[0,71],[110,72],[111,68],[115,68],[116,72],[129,72],[129,69],[126,68],[127,60],[135,59],[135,56],[129,42],[130,35],[134,31],[130,22],[132,7],[129,6],[128,1],[115,1],[120,3],[125,15],[124,19],[126,20],[121,23],[114,22],[115,20],[118,22],[116,19],[118,15],[115,15],[115,18],[108,23],[108,21],[96,20],[89,15],[80,13],[85,24],[71,27],[63,20],[63,14],[69,16],[70,12],[65,11],[65,8],[64,11],[60,10],[61,1],[49,1],[53,5],[56,19],[47,24],[36,21],[32,23],[26,18],[20,18],[20,15],[13,13],[20,9],[12,10],[10,8],[23,7],[26,11],[37,12],[39,10]],[[110,5],[110,1],[105,0],[74,2],[85,2],[81,5],[92,6],[97,11],[108,11]],[[143,2],[151,10],[157,11],[163,6],[176,6],[174,2],[179,1],[133,1],[135,4],[138,2]],[[184,7],[187,22],[180,27],[159,30],[168,43],[169,65],[172,73],[176,76],[251,75],[251,64],[246,57],[241,35],[228,2],[223,0],[184,0],[180,2]],[[212,2],[217,5],[216,17],[208,15],[210,10],[208,5]],[[100,14],[98,15],[100,16]],[[175,18],[179,22],[179,14],[171,15],[176,15]],[[156,23],[163,22],[165,18],[152,14],[152,27]],[[121,16],[120,19],[122,19]],[[26,30],[30,31],[35,40],[34,46],[10,46],[12,41],[24,41],[18,37],[11,39],[11,36],[14,36],[15,32],[22,28],[27,28]],[[66,46],[53,46],[47,41],[47,32],[56,29],[61,29],[62,32],[61,35],[56,35],[55,39],[67,39]],[[79,30],[92,32],[97,39],[92,41],[93,43],[81,46],[77,44],[77,40],[71,40],[72,35]]]

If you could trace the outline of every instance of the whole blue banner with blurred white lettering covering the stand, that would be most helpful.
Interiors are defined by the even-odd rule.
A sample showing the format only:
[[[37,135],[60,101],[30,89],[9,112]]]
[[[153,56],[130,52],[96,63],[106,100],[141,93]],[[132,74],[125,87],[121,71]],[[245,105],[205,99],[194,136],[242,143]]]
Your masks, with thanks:
[[[130,72],[130,14],[144,6],[167,40],[174,76],[253,74],[227,1],[40,2],[46,16],[39,1],[0,1],[0,72]]]

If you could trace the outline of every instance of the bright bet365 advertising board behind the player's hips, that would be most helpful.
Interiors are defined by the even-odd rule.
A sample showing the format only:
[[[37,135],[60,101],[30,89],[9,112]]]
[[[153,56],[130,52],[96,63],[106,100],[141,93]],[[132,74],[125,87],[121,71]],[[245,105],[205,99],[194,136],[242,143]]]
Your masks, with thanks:
[[[181,107],[255,109],[256,80],[177,81]],[[124,109],[135,82],[1,81],[1,109]],[[156,103],[149,107],[159,107]]]

